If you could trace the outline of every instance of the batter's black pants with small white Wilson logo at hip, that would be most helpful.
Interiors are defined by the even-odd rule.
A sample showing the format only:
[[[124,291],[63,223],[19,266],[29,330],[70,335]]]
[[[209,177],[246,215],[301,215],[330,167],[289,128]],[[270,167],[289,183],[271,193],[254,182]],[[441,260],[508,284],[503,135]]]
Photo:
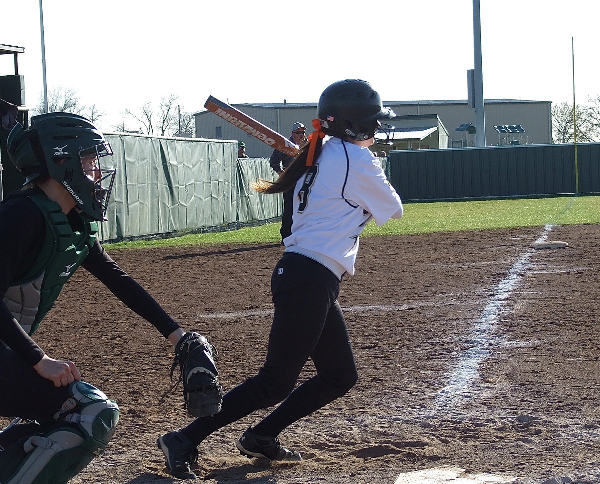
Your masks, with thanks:
[[[346,394],[358,379],[337,301],[337,277],[313,259],[286,252],[273,271],[271,289],[275,315],[265,364],[259,374],[224,395],[221,412],[198,418],[183,429],[195,444],[218,428],[285,399],[254,426],[259,435],[276,436],[290,423]],[[308,358],[313,359],[317,374],[294,389]]]

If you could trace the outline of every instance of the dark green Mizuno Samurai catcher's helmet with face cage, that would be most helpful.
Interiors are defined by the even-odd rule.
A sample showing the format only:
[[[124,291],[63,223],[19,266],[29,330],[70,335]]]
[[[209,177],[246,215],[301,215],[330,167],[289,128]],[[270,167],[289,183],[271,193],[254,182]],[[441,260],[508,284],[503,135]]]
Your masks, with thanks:
[[[33,116],[31,129],[14,126],[7,147],[25,184],[49,176],[73,196],[85,216],[106,220],[116,170],[101,169],[100,159],[113,151],[89,119],[71,113]]]

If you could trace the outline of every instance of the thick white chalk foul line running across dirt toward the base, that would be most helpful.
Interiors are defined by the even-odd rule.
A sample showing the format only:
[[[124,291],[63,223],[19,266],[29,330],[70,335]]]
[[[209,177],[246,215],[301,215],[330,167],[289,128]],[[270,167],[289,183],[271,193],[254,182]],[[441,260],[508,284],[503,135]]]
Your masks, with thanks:
[[[553,228],[554,225],[546,225],[535,244],[547,240]],[[521,254],[506,277],[496,287],[494,298],[485,306],[481,317],[475,321],[469,335],[471,346],[462,353],[456,367],[449,373],[448,384],[433,394],[440,406],[452,406],[470,394],[472,383],[479,376],[479,365],[492,353],[493,331],[502,313],[503,304],[511,296],[521,276],[530,270],[529,260],[534,252],[535,249],[529,249]]]

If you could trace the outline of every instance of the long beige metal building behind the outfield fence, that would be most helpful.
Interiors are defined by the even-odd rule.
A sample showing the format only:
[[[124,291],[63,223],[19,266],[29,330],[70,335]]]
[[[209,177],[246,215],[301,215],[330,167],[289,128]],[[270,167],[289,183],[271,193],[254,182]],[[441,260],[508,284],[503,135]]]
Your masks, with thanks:
[[[398,115],[397,119],[390,120],[390,124],[398,126],[398,131],[411,130],[422,126],[421,116],[439,118],[439,129],[436,136],[448,132],[447,147],[473,146],[474,135],[469,131],[456,131],[461,125],[475,123],[475,110],[469,108],[467,101],[388,101],[383,102],[385,106],[391,107]],[[292,135],[292,125],[295,122],[304,123],[308,132],[312,131],[311,122],[317,114],[316,102],[283,102],[266,104],[233,104],[233,107],[243,111],[248,116],[260,121],[269,128],[283,135]],[[524,101],[521,99],[486,99],[485,101],[485,125],[488,146],[502,146],[505,144],[550,144],[552,143],[552,103],[550,101]],[[230,125],[210,111],[202,111],[194,114],[196,117],[196,137],[217,140],[244,141],[247,146],[246,152],[251,158],[269,158],[272,149],[262,141],[241,129]],[[412,126],[407,126],[407,119],[403,116],[412,116]],[[421,126],[419,126],[421,123]],[[409,123],[410,124],[410,123]],[[434,123],[435,124],[435,123]],[[433,125],[430,128],[433,128]],[[518,137],[514,134],[510,139],[505,134],[499,133],[494,126],[520,125],[524,132]],[[443,128],[443,129],[442,129]],[[472,131],[472,130],[471,130]],[[420,135],[424,134],[422,131]],[[431,135],[431,132],[428,134]],[[400,139],[400,136],[398,139]],[[407,134],[404,138],[410,138]],[[412,139],[412,138],[411,138]],[[436,147],[430,143],[415,143],[401,149],[416,149],[416,147]],[[421,140],[423,141],[423,140]],[[443,148],[443,140],[439,140],[439,147]]]

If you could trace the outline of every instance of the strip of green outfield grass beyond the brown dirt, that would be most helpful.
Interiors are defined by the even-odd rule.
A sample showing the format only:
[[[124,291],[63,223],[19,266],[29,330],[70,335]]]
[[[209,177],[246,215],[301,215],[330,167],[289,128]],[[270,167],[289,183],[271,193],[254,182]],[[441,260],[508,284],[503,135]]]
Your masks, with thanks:
[[[479,229],[600,223],[600,196],[412,203],[404,217],[383,226],[368,224],[362,235],[430,234]],[[279,223],[232,232],[193,234],[153,241],[106,244],[113,249],[219,243],[279,243]]]

